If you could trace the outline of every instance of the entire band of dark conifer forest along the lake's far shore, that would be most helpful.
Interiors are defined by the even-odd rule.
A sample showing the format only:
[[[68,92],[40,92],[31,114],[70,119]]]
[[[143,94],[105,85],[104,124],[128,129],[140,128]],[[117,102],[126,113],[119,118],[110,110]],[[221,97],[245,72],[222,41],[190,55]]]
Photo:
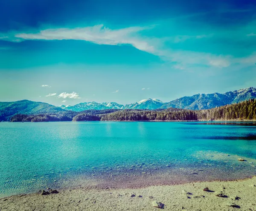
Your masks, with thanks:
[[[11,122],[47,121],[209,121],[256,120],[256,100],[207,110],[168,108],[164,110],[87,110],[47,114],[16,114]]]

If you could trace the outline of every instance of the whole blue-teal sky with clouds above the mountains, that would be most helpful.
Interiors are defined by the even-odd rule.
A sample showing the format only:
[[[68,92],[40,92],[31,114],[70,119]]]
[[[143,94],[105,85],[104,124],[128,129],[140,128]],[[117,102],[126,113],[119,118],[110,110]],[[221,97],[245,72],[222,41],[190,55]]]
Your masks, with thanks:
[[[254,0],[0,1],[0,101],[169,102],[251,86]]]

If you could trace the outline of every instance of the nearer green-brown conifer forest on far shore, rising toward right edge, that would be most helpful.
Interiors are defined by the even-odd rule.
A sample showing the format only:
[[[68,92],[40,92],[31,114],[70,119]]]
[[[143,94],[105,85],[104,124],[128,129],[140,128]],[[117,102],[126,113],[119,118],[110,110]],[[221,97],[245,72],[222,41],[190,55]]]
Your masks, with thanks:
[[[256,100],[207,110],[168,108],[159,111],[122,110],[102,116],[103,121],[256,120]]]

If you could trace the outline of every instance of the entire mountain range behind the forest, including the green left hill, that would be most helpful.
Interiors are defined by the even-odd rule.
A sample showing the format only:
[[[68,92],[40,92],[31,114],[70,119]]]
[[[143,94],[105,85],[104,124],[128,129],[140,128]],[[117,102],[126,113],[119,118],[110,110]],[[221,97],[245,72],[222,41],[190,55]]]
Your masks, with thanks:
[[[67,111],[104,110],[104,109],[209,109],[227,104],[239,103],[244,100],[256,98],[256,88],[242,88],[236,91],[228,91],[224,94],[195,94],[191,97],[181,97],[168,103],[157,99],[140,100],[131,104],[111,103],[79,103],[74,106],[52,106],[48,103],[20,100],[16,102],[0,102],[0,120],[10,120],[15,114],[44,114],[63,113]]]

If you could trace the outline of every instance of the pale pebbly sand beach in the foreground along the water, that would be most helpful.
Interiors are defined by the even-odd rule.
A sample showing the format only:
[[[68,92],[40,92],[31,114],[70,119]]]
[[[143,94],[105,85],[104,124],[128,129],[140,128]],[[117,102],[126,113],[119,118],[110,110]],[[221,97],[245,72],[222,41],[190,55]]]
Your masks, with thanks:
[[[209,191],[203,191],[206,187]],[[224,197],[216,196],[220,193]],[[1,198],[0,211],[161,210],[153,207],[153,201],[163,203],[163,210],[170,211],[256,211],[256,177],[134,189],[78,187],[58,194],[16,195]]]

